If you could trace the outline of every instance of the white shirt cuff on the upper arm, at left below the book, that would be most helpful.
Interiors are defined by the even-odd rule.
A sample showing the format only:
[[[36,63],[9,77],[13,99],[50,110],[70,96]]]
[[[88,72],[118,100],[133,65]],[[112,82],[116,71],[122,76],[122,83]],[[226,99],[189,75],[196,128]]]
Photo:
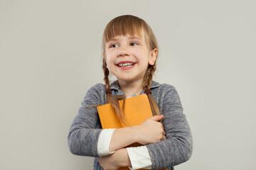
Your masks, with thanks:
[[[97,152],[100,157],[112,154],[114,152],[110,152],[110,141],[115,129],[104,129],[100,132],[100,137],[97,143]]]

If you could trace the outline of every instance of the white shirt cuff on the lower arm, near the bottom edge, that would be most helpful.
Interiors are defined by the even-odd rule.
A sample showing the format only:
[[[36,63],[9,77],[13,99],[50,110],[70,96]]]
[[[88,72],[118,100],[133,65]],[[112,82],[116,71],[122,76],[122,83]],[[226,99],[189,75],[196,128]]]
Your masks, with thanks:
[[[127,147],[129,159],[132,164],[132,169],[151,169],[152,162],[149,151],[145,146],[142,147]]]

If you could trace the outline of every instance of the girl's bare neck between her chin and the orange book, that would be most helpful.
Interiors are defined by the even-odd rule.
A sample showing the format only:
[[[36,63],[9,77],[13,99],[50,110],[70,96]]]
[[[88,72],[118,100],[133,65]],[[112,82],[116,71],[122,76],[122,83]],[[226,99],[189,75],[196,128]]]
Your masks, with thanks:
[[[127,83],[124,81],[118,81],[119,86],[126,97],[132,96],[132,94],[139,95],[143,90],[142,82],[143,81],[132,81]]]

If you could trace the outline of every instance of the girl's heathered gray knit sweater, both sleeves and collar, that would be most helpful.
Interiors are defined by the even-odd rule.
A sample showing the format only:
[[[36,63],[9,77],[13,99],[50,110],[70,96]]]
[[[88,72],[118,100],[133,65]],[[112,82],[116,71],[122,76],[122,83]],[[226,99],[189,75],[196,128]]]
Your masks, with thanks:
[[[113,95],[124,95],[117,81],[110,84]],[[174,86],[159,84],[152,81],[151,92],[159,106],[160,113],[164,115],[163,123],[166,140],[145,145],[149,150],[152,169],[164,169],[181,164],[190,159],[193,149],[191,130],[183,114],[183,108]],[[144,94],[142,91],[141,94]],[[125,95],[124,95],[125,96]],[[102,170],[97,162],[97,140],[102,127],[97,108],[90,105],[104,105],[106,92],[104,84],[92,86],[82,101],[82,106],[73,121],[68,134],[70,152],[82,156],[95,157],[94,169]]]

